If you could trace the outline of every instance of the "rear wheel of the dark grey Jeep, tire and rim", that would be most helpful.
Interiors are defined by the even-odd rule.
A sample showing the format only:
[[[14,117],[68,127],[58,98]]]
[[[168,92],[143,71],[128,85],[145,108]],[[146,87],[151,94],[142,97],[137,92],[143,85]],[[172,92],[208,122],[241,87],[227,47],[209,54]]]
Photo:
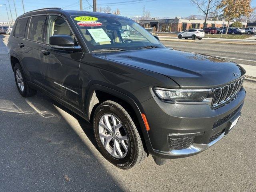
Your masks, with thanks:
[[[19,63],[16,63],[14,66],[14,78],[18,91],[23,97],[31,97],[36,94],[36,90],[28,86],[28,82]]]

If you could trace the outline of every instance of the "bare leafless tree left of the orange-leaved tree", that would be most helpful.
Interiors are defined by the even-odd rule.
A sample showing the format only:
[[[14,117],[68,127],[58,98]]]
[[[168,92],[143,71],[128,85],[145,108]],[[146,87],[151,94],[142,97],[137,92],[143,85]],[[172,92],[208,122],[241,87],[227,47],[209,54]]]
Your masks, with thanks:
[[[206,20],[214,18],[216,15],[220,0],[191,0],[191,3],[196,5],[200,12],[204,14],[204,27],[206,27]]]

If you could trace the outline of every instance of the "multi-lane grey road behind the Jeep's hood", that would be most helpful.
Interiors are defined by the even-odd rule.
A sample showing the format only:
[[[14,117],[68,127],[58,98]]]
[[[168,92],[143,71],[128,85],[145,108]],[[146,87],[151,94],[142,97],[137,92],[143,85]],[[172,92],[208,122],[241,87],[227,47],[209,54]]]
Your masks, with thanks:
[[[248,44],[223,44],[214,43],[221,42],[218,40],[195,40],[187,41],[162,41],[165,46],[172,47],[177,50],[195,52],[201,54],[209,54],[226,58],[238,64],[256,66],[256,45]],[[255,41],[256,43],[256,41]]]

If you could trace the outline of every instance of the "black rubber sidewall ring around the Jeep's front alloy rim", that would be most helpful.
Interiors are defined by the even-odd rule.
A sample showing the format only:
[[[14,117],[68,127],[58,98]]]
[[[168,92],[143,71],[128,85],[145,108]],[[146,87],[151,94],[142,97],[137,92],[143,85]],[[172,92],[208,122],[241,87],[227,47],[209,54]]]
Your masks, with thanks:
[[[124,158],[118,159],[118,158],[115,158],[112,155],[110,155],[106,151],[106,149],[104,148],[104,146],[100,140],[98,124],[99,124],[100,118],[104,114],[113,114],[121,121],[122,125],[126,128],[126,132],[128,134],[128,139],[129,139],[129,148],[128,148],[128,152]],[[136,155],[135,154],[136,145],[135,145],[135,140],[134,140],[134,133],[132,131],[132,126],[130,125],[130,123],[128,122],[128,120],[126,119],[126,117],[124,116],[124,114],[122,112],[120,112],[119,110],[117,110],[116,108],[114,108],[112,106],[108,106],[108,105],[100,106],[99,109],[96,110],[96,114],[94,115],[93,128],[94,128],[94,136],[96,138],[98,147],[100,148],[100,152],[109,162],[111,162],[115,166],[122,168],[122,169],[127,168],[134,162],[134,158]]]

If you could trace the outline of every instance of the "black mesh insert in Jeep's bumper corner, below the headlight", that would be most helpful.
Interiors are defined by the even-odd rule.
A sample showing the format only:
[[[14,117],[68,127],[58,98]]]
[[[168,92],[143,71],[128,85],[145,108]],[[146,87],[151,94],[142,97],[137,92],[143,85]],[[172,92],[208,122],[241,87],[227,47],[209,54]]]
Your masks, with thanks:
[[[189,148],[193,144],[194,138],[195,137],[168,137],[169,148],[170,150],[181,150]]]

